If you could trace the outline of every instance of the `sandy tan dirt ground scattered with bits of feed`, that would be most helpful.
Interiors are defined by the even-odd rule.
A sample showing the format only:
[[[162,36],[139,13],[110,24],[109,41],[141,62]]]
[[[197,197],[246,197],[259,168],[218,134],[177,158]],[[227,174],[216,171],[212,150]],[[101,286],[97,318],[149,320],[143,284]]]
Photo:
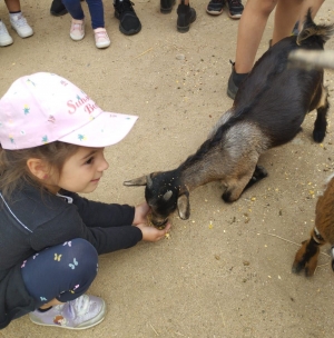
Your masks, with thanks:
[[[193,0],[191,0],[193,1]],[[118,30],[111,1],[105,1],[111,46],[98,50],[87,23],[80,42],[69,38],[69,14],[50,16],[51,1],[22,0],[35,36],[0,49],[0,95],[18,77],[50,71],[82,88],[108,111],[139,116],[120,143],[107,149],[110,168],[89,198],[136,205],[144,188],[122,182],[174,169],[195,152],[230,106],[226,96],[238,21],[226,12],[210,17],[204,0],[191,3],[197,20],[176,31],[176,7],[161,14],[159,2],[135,1],[143,30]],[[85,6],[87,18],[89,13]],[[1,2],[0,18],[9,28]],[[333,22],[325,1],[317,22]],[[258,50],[268,46],[273,16]],[[334,49],[334,39],[326,48]],[[334,107],[334,72],[326,71]],[[100,257],[89,292],[108,305],[106,319],[85,331],[39,327],[26,316],[0,331],[6,338],[41,337],[333,337],[334,278],[328,247],[312,279],[291,272],[294,255],[314,223],[316,196],[334,171],[333,112],[323,145],[312,140],[314,112],[291,143],[261,158],[268,177],[226,205],[218,182],[194,190],[191,215],[171,218],[169,239]]]

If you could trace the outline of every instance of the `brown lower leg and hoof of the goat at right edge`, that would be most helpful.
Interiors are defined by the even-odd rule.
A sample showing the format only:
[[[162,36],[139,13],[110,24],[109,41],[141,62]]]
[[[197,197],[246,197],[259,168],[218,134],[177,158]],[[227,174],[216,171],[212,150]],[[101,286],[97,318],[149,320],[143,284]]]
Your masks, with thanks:
[[[292,271],[294,274],[299,274],[303,269],[305,269],[306,277],[313,276],[317,266],[320,246],[322,246],[322,243],[315,241],[313,236],[311,239],[304,240],[302,242],[302,247],[295,256]]]

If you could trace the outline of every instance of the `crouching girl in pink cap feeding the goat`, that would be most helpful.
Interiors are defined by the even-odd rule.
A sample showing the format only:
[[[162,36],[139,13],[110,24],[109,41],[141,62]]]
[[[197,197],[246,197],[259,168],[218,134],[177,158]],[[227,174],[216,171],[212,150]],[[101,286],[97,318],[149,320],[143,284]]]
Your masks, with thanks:
[[[102,111],[68,80],[39,72],[0,99],[0,328],[28,312],[38,325],[85,329],[106,315],[84,295],[98,255],[157,241],[147,203],[90,201],[119,142],[137,117]]]

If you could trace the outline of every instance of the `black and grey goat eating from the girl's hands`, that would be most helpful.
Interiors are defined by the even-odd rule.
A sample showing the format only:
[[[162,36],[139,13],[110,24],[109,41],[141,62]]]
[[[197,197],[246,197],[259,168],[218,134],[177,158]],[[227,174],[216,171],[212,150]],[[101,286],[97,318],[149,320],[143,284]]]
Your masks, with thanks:
[[[328,110],[323,70],[287,68],[287,57],[296,49],[323,50],[334,32],[332,26],[316,26],[308,11],[298,37],[288,37],[271,47],[240,84],[233,107],[213,128],[196,153],[178,168],[153,172],[125,181],[125,186],[146,186],[145,198],[151,208],[151,222],[164,227],[178,209],[181,219],[190,215],[189,191],[220,180],[223,200],[233,202],[253,183],[266,177],[257,166],[267,149],[291,141],[301,130],[305,115],[317,117],[313,138],[322,142]]]

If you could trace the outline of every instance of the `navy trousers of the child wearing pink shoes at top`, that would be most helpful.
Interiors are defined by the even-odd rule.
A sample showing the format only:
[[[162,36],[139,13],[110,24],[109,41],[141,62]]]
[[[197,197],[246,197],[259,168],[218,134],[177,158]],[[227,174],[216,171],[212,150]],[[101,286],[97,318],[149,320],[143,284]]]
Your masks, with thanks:
[[[102,0],[86,0],[91,18],[91,27],[105,28],[105,12]],[[84,20],[85,14],[80,0],[62,0],[63,6],[76,20]]]

